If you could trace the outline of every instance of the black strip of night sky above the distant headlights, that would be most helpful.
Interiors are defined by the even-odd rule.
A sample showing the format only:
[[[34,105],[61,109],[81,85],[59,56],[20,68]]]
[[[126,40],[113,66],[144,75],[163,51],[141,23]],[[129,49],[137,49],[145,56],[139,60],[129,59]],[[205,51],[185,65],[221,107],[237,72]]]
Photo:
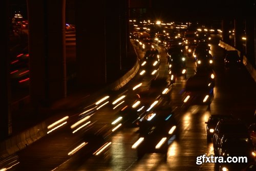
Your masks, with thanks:
[[[151,0],[153,14],[163,18],[233,18],[254,16],[255,0]]]

